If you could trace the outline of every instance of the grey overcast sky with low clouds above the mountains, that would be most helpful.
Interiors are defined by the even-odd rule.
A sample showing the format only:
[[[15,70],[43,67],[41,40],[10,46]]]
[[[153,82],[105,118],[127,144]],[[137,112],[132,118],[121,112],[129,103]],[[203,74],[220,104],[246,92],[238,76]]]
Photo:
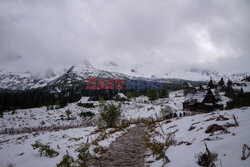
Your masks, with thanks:
[[[249,19],[249,0],[0,0],[0,69],[250,72]]]

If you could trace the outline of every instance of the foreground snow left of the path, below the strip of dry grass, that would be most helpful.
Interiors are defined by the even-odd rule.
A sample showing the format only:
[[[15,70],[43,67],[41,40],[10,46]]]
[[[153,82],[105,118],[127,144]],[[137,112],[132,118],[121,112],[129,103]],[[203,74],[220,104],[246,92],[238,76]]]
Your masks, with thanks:
[[[128,128],[133,127],[131,125]],[[112,128],[106,129],[105,134],[103,132],[96,132],[96,126],[90,126],[86,128],[73,128],[68,130],[59,130],[56,132],[34,132],[24,133],[18,135],[0,135],[0,166],[7,166],[12,164],[17,167],[54,167],[58,164],[62,157],[68,151],[69,155],[77,158],[79,149],[83,144],[92,143],[94,140],[100,138],[100,136],[106,135],[102,140],[98,140],[98,144],[90,145],[91,155],[96,155],[93,150],[95,147],[108,148],[109,145],[115,141],[117,137],[126,132],[117,131],[110,133]],[[31,144],[36,141],[42,144],[49,144],[51,148],[59,152],[59,155],[53,158],[41,157],[38,150],[33,150]]]

